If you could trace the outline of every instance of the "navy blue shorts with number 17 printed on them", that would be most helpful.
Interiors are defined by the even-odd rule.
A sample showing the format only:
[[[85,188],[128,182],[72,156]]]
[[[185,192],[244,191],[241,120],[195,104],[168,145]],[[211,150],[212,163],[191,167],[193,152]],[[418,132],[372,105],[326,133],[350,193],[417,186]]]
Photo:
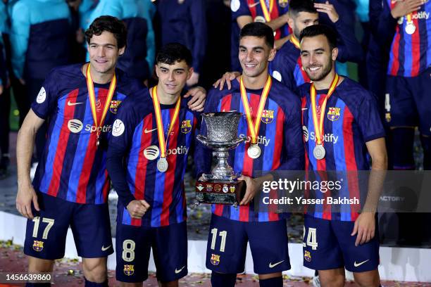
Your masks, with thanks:
[[[66,234],[72,229],[77,254],[84,258],[113,253],[108,204],[81,204],[38,192],[40,211],[27,219],[24,253],[41,259],[63,258]]]

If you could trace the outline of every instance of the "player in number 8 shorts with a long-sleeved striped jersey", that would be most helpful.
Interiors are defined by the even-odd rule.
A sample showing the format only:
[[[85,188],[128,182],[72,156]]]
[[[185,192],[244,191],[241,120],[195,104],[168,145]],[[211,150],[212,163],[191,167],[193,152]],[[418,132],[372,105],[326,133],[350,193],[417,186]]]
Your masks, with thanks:
[[[113,124],[107,164],[120,198],[116,278],[123,286],[142,286],[148,278],[151,248],[161,286],[178,286],[187,275],[183,178],[199,113],[183,95],[192,73],[185,46],[163,46],[158,84],[127,97]]]

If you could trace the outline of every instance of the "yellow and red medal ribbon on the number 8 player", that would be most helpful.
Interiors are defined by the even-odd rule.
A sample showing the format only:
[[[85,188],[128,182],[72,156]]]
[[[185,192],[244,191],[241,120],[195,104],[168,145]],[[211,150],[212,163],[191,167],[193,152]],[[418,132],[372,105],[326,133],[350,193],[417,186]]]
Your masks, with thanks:
[[[154,111],[156,112],[156,124],[157,124],[158,144],[160,146],[160,157],[166,158],[166,146],[168,146],[168,138],[169,138],[170,132],[172,132],[175,122],[177,121],[178,115],[180,114],[181,96],[178,97],[177,104],[175,105],[175,111],[174,111],[172,120],[170,122],[167,139],[165,139],[165,131],[163,129],[163,120],[161,117],[160,102],[158,101],[158,97],[157,97],[157,86],[151,89],[151,98],[153,98]]]

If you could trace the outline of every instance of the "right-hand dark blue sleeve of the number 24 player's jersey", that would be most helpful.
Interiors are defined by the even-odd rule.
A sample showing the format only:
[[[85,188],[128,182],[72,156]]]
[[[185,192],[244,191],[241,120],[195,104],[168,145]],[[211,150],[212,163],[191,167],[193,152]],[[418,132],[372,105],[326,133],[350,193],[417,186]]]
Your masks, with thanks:
[[[383,128],[377,108],[377,101],[371,94],[367,94],[366,98],[359,105],[358,125],[366,142],[385,136],[385,129]]]

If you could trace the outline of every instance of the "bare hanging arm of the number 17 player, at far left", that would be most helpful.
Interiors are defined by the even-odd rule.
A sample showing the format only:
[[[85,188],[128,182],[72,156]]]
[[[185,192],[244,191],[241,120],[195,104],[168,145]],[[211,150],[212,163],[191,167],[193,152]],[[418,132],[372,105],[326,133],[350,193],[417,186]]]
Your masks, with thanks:
[[[16,209],[21,215],[33,218],[32,203],[39,210],[37,195],[30,179],[30,165],[37,130],[44,123],[32,109],[25,116],[23,125],[18,132],[16,144],[16,160],[18,166],[18,193],[16,196]]]

